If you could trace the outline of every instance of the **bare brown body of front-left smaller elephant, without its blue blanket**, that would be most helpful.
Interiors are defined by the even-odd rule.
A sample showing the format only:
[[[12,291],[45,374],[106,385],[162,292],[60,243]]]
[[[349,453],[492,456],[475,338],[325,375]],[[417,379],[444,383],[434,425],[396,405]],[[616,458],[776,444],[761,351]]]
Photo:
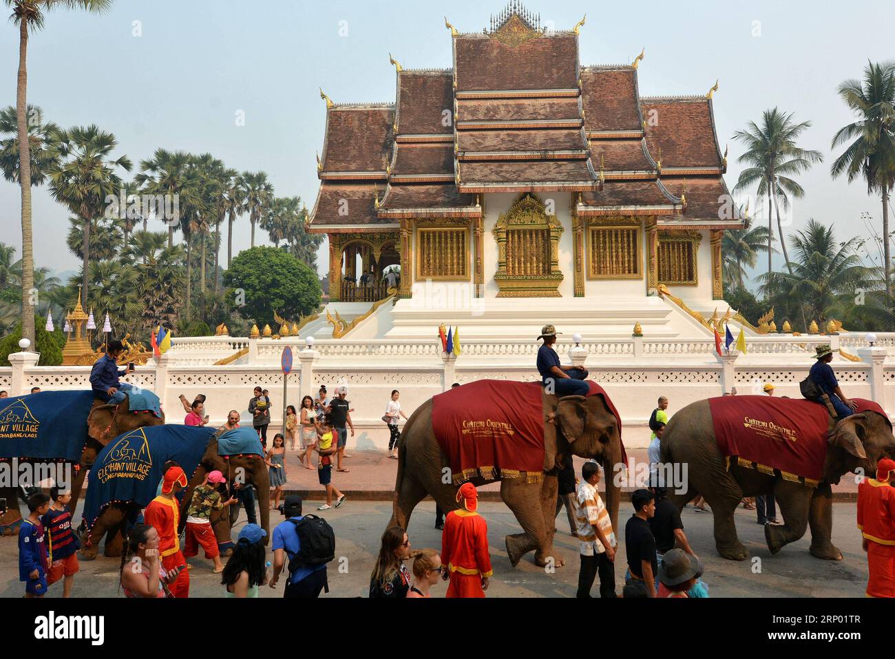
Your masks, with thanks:
[[[186,489],[183,493],[183,499],[180,507],[180,528],[178,532],[182,533],[186,525],[186,511],[192,500],[192,492],[196,486],[199,486],[205,475],[211,471],[221,471],[227,478],[227,483],[231,484],[234,478],[242,478],[246,485],[255,486],[258,490],[258,504],[260,506],[261,526],[268,530],[269,536],[269,493],[270,484],[268,477],[268,466],[260,455],[234,455],[221,456],[217,453],[217,435],[197,435],[195,440],[200,442],[198,447],[201,458],[193,461],[192,464],[179,462],[181,468],[186,474],[192,474]],[[204,446],[204,450],[202,447]],[[154,460],[164,463],[182,456],[177,455],[160,455],[153,456]],[[152,495],[154,495],[154,491]],[[227,495],[224,494],[224,497]],[[81,523],[78,529],[81,537],[81,559],[92,561],[97,557],[99,543],[103,536],[107,536],[104,555],[107,557],[120,556],[124,548],[124,532],[126,528],[132,525],[136,519],[137,513],[149,505],[149,501],[128,501],[110,503],[98,516],[90,531],[87,530],[86,524]],[[233,541],[230,536],[230,518],[226,508],[222,511],[216,511],[210,517],[211,526],[217,537],[217,545],[221,549],[222,555],[229,555],[232,551]],[[265,543],[267,538],[265,538]]]

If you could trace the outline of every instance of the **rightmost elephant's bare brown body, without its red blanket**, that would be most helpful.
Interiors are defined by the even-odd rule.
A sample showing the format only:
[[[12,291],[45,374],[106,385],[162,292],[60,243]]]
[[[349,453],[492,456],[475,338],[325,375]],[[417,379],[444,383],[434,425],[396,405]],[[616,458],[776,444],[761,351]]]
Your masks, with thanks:
[[[859,404],[869,402],[852,400]],[[726,469],[726,460],[715,440],[708,400],[691,403],[675,414],[665,428],[660,447],[663,463],[687,466],[686,493],[677,494],[669,488],[669,499],[682,509],[697,494],[705,498],[712,506],[715,547],[722,557],[732,561],[749,557],[734,525],[734,511],[743,497],[773,494],[784,524],[764,527],[764,539],[771,553],[800,539],[810,527],[811,553],[817,558],[840,561],[842,553],[831,541],[831,486],[850,471],[864,469],[863,473],[873,474],[876,460],[895,455],[895,436],[889,419],[872,410],[853,414],[839,423],[831,418],[823,479],[816,488],[784,479],[776,471],[765,474],[748,469],[735,460]]]

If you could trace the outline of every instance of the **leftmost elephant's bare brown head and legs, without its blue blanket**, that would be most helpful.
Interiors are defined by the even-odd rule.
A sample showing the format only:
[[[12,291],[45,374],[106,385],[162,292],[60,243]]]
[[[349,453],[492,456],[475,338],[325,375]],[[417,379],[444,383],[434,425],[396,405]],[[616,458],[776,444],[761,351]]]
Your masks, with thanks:
[[[45,394],[37,393],[32,395],[41,396]],[[26,400],[28,398],[30,397],[24,397]],[[77,424],[79,421],[72,419],[72,423]],[[165,423],[165,414],[163,412],[161,418],[158,418],[149,411],[131,413],[129,399],[126,397],[124,402],[117,406],[109,405],[104,401],[96,399],[93,401],[87,418],[82,423],[87,427],[86,443],[82,433],[73,432],[67,438],[69,441],[79,443],[78,449],[83,446],[81,459],[75,465],[75,473],[72,478],[72,503],[70,503],[72,514],[78,505],[84,478],[87,476],[93,461],[96,460],[98,452],[102,451],[103,447],[118,435],[123,435],[139,427],[161,426]],[[0,516],[0,529],[3,530],[3,535],[13,535],[16,532],[14,528],[21,523],[18,488],[0,488],[0,498],[5,498],[7,503],[6,513]]]

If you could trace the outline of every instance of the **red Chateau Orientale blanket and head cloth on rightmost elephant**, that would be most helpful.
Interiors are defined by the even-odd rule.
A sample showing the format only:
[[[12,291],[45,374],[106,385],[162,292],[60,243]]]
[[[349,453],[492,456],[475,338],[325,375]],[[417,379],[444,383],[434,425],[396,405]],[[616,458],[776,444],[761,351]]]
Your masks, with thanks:
[[[874,401],[853,398],[857,411],[888,416]],[[830,415],[813,401],[772,396],[710,398],[712,427],[721,455],[766,474],[816,487],[823,479]]]

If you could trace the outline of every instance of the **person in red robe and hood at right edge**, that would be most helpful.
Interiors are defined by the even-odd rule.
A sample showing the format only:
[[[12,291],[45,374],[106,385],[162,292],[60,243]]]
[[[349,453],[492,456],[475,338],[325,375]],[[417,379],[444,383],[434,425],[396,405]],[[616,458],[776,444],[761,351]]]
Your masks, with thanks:
[[[857,486],[857,528],[867,553],[867,596],[895,597],[895,487],[891,472],[895,461],[876,463],[876,477]]]

